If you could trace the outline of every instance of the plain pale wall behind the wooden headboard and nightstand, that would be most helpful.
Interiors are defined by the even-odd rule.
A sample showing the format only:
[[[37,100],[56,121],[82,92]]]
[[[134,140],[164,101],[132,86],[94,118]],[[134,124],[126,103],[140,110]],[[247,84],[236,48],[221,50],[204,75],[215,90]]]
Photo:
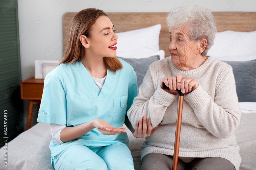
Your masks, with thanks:
[[[62,58],[62,44],[59,47],[57,44],[62,42],[62,16],[66,12],[90,7],[105,12],[168,12],[175,6],[187,4],[196,4],[211,11],[256,11],[256,1],[253,0],[19,0],[18,42],[22,76],[24,79],[34,76],[29,69],[34,71],[35,60]],[[24,117],[27,117],[27,110],[28,100],[24,100]],[[33,116],[32,124],[36,118],[37,115]]]

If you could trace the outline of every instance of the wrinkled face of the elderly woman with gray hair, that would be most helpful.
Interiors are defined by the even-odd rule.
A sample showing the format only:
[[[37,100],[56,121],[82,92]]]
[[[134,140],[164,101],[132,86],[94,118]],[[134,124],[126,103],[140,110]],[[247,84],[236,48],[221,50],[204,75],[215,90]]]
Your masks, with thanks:
[[[191,40],[186,25],[174,26],[169,32],[168,51],[172,64],[178,67],[191,67],[196,63],[199,54],[199,43]],[[179,67],[179,68],[180,68]]]

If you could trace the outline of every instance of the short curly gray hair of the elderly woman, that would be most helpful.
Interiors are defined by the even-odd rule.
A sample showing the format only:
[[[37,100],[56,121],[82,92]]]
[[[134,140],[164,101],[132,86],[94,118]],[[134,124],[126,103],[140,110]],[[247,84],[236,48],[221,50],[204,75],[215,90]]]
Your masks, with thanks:
[[[187,25],[190,38],[196,42],[206,39],[207,45],[201,55],[207,55],[217,32],[214,15],[209,9],[197,5],[176,7],[168,13],[166,22],[169,30],[173,26]]]

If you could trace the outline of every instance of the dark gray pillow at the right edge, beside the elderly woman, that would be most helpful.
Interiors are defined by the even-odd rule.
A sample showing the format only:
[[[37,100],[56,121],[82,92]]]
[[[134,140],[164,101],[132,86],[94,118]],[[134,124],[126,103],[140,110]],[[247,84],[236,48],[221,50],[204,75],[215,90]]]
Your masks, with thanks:
[[[233,68],[239,102],[256,102],[256,60],[223,61]]]

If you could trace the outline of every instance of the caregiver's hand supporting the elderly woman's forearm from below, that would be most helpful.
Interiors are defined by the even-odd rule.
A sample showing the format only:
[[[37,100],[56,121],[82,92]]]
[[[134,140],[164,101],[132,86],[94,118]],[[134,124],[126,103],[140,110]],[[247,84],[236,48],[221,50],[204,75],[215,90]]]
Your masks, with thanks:
[[[137,121],[135,125],[135,131],[133,133],[133,136],[136,138],[145,138],[150,136],[151,133],[155,131],[155,129],[158,127],[158,125],[152,129],[151,120],[148,120],[148,128],[147,128],[147,119],[146,116],[143,117],[143,119],[140,119],[140,122]]]

